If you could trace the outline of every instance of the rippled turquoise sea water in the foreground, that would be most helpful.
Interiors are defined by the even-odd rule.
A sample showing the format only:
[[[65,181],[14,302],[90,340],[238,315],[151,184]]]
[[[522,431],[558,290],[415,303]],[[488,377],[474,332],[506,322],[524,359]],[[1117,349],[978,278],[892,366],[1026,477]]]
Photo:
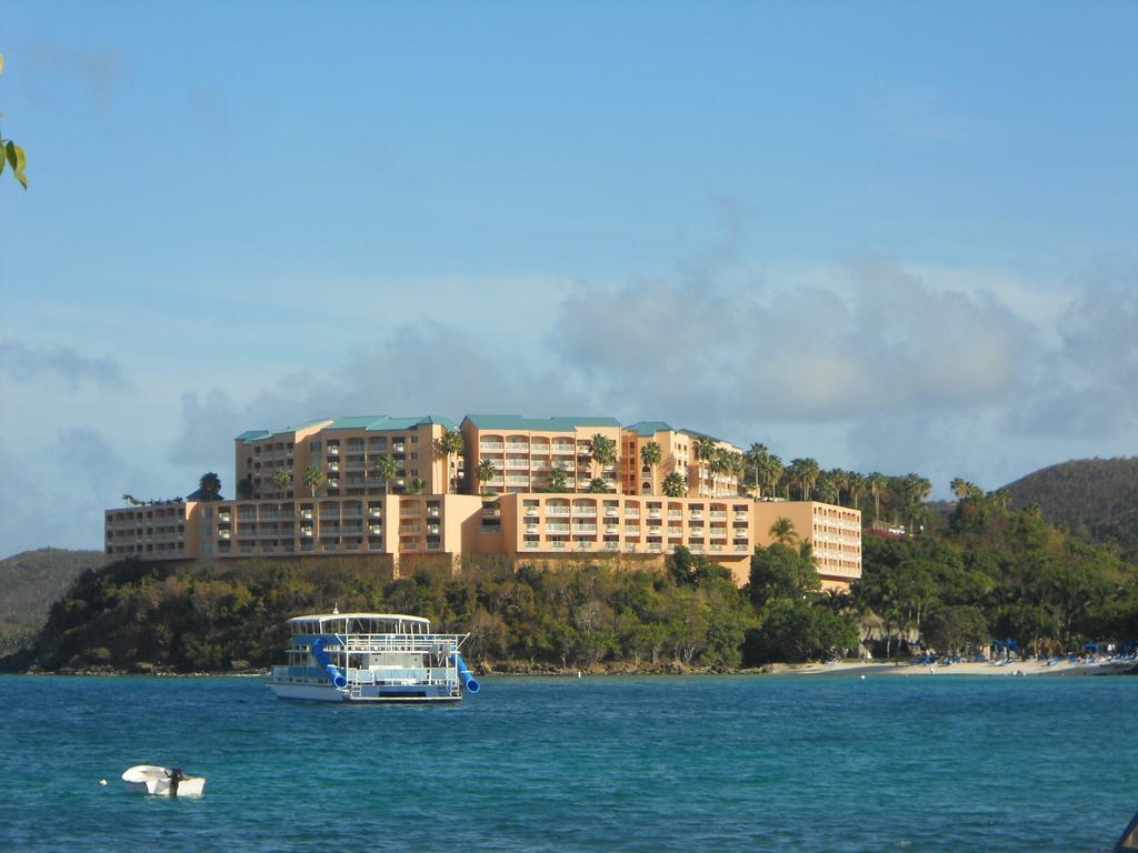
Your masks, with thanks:
[[[1102,851],[1138,810],[1136,699],[1138,678],[586,677],[341,707],[0,677],[0,850]],[[137,763],[206,795],[131,794]]]

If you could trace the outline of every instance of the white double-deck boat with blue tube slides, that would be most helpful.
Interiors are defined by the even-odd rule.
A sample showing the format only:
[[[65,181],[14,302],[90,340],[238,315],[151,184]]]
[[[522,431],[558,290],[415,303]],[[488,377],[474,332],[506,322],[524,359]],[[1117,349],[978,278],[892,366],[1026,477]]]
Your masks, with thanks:
[[[460,702],[478,693],[459,647],[469,633],[431,633],[398,613],[331,613],[288,620],[288,663],[269,687],[282,699]]]

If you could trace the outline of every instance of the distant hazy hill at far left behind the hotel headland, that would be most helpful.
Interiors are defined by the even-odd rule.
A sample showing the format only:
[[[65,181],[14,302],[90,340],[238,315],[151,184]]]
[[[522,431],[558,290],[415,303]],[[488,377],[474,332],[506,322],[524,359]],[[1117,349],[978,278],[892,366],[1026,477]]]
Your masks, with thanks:
[[[0,655],[39,631],[52,603],[84,569],[102,563],[99,550],[41,548],[0,560]]]

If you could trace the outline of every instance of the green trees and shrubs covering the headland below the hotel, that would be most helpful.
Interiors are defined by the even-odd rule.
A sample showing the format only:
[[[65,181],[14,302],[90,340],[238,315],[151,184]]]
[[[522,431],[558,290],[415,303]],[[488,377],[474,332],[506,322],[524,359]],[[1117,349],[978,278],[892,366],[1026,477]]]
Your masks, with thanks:
[[[469,632],[468,660],[495,674],[1100,672],[1086,659],[1130,652],[1138,638],[1138,566],[999,496],[966,494],[920,536],[867,533],[863,575],[848,593],[820,589],[810,543],[793,525],[772,533],[777,541],[756,548],[742,588],[684,548],[662,570],[485,557],[398,578],[352,561],[127,560],[80,574],[0,671],[263,671],[281,660],[288,618],[333,606],[414,613]],[[1013,660],[959,663],[979,655]],[[805,665],[828,660],[838,662]]]

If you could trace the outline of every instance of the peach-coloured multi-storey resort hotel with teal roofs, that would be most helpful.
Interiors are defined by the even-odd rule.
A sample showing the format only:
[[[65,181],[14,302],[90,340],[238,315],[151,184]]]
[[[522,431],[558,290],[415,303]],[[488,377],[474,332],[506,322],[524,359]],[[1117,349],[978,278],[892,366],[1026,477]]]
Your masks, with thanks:
[[[596,436],[610,453],[594,453]],[[651,442],[659,461],[644,464]],[[682,545],[743,583],[754,546],[785,517],[810,541],[824,587],[860,577],[857,510],[756,500],[709,462],[711,448],[741,453],[662,421],[611,417],[377,415],[250,430],[234,440],[237,498],[198,490],[107,510],[106,558],[336,557],[398,573],[483,554],[659,563]]]

